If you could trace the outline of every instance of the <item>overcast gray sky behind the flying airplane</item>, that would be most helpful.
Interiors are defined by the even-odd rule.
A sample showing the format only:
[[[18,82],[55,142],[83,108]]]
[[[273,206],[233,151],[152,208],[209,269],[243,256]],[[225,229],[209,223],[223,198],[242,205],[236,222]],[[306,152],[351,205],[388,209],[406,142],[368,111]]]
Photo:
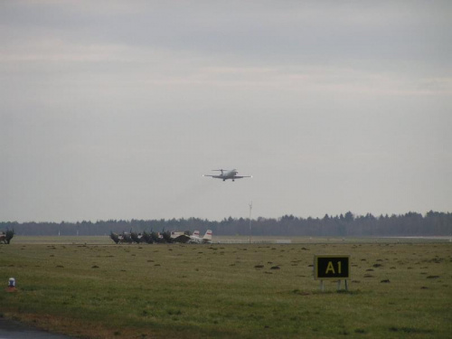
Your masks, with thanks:
[[[0,46],[0,221],[451,211],[452,2],[3,1]]]

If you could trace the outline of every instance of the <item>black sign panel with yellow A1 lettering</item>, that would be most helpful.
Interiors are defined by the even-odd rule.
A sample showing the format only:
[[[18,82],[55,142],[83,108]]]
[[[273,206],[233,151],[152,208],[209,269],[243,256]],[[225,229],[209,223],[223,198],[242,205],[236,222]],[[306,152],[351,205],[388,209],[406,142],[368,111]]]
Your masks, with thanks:
[[[350,278],[349,259],[350,256],[315,256],[314,278],[316,280]]]

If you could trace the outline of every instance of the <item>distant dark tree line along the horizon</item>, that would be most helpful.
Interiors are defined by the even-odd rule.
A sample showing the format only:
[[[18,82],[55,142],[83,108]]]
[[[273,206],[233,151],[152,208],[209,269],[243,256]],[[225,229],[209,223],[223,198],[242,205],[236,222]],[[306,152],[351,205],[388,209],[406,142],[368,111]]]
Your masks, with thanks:
[[[284,215],[278,219],[259,217],[251,220],[254,236],[449,236],[452,213],[417,212],[373,216],[346,212],[324,218],[298,218]],[[14,230],[16,235],[108,235],[110,231],[194,231],[212,230],[213,235],[249,235],[250,219],[225,218],[208,221],[198,218],[171,220],[108,220],[78,222],[0,222],[0,231]]]

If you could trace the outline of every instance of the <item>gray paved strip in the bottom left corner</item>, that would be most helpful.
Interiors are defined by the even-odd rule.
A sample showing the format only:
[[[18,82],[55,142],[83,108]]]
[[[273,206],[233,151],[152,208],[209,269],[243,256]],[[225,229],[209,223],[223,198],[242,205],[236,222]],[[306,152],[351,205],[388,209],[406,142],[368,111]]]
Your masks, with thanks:
[[[71,337],[50,334],[12,320],[0,318],[0,339],[71,339]]]

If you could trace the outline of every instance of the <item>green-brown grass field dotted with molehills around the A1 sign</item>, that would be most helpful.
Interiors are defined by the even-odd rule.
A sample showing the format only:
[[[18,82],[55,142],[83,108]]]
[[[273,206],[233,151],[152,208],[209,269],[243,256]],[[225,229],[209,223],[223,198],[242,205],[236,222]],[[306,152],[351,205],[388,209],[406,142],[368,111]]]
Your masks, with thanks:
[[[0,315],[87,338],[452,336],[452,243],[310,241],[16,237],[0,245],[0,283],[18,287]],[[351,255],[349,292],[319,291],[315,254]]]

